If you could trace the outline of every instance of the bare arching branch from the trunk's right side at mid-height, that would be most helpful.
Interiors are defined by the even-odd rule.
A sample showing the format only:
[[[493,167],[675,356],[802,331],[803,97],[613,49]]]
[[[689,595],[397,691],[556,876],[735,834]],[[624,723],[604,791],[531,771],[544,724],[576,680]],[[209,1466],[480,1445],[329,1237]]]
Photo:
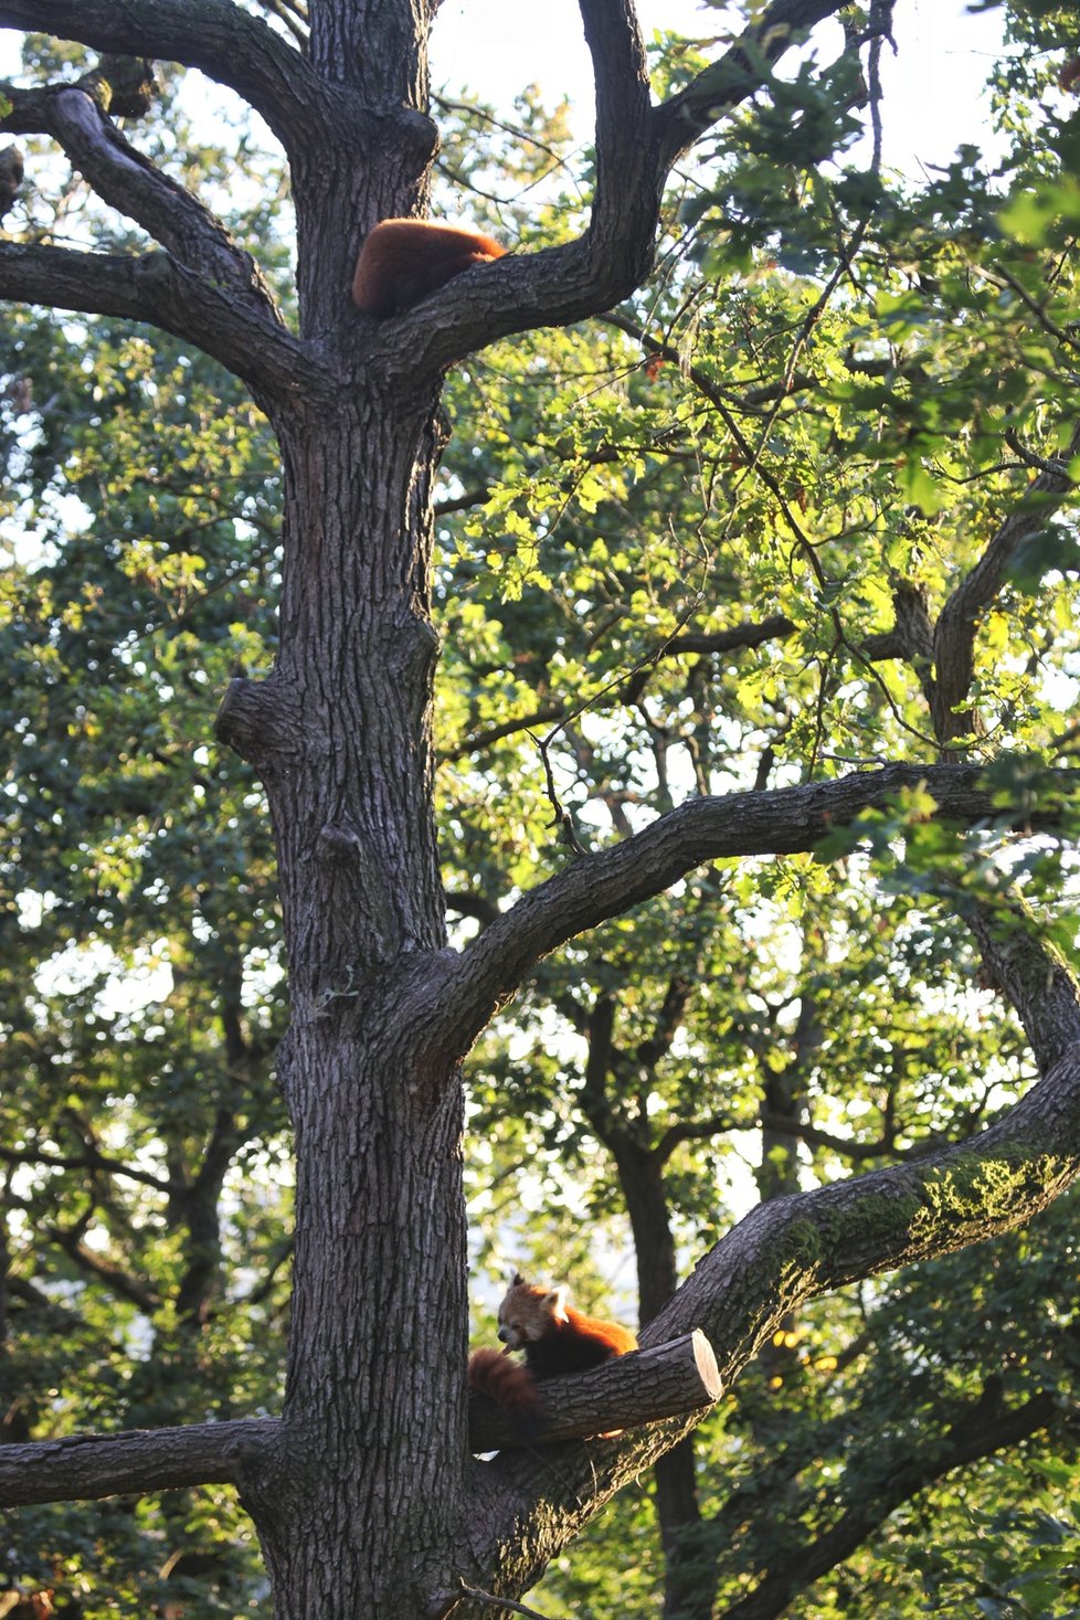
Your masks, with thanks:
[[[832,828],[918,786],[942,820],[973,825],[1001,815],[978,768],[959,765],[889,765],[832,782],[690,799],[643,833],[575,860],[492,922],[460,957],[457,1001],[447,1008],[455,1034],[471,1040],[549,951],[662,894],[706,860],[811,850]]]

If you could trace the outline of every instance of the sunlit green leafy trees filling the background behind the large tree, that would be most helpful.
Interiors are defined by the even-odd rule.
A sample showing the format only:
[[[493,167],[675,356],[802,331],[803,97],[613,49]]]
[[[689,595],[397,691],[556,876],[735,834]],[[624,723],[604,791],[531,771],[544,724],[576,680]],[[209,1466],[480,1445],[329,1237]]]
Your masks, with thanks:
[[[138,62],[29,42],[39,84],[10,91],[5,126],[58,144],[108,212],[81,185],[52,217],[34,196],[0,251],[6,296],[104,318],[10,318],[11,501],[40,514],[40,549],[5,619],[21,894],[0,1481],[10,1502],[138,1502],[96,1510],[83,1552],[28,1508],[26,1591],[86,1615],[117,1594],[146,1612],[159,1581],[164,1612],[176,1591],[206,1614],[257,1604],[253,1560],[223,1552],[227,1498],[147,1495],[233,1481],[277,1614],[489,1612],[479,1594],[525,1591],[662,1460],[670,1614],[777,1614],[823,1578],[842,1612],[882,1580],[920,1601],[900,1531],[957,1468],[986,1513],[978,1466],[1002,1443],[1048,1489],[1054,1466],[1070,1479],[1052,1226],[1044,1247],[962,1254],[950,1280],[827,1312],[818,1296],[1012,1228],[1077,1168],[1059,954],[1075,541],[1056,522],[1075,136],[1062,105],[1035,133],[1017,112],[1072,23],[1015,18],[1007,183],[972,151],[908,196],[876,154],[834,162],[866,97],[874,130],[887,8],[847,8],[847,32],[771,71],[792,28],[840,10],[780,0],[712,62],[669,40],[651,107],[630,8],[583,3],[594,191],[508,201],[502,228],[539,251],[379,324],[347,288],[363,232],[427,202],[427,16],[325,0],[308,31],[288,6],[277,29],[225,3],[0,6],[238,89],[288,160],[300,295],[293,335],[267,240],[277,170],[233,217],[241,168],[181,138],[181,73],[151,92]],[[534,100],[525,138],[495,143],[444,110],[457,185],[492,190],[500,164],[526,186],[562,156]],[[117,117],[146,122],[138,152]],[[672,164],[717,120],[664,212]],[[78,246],[57,246],[70,220]],[[661,277],[635,298],[657,227]],[[491,348],[620,296],[602,327]],[[238,661],[219,734],[248,765],[207,734]],[[118,1001],[117,972],[142,993]],[[727,1382],[748,1369],[711,1474],[678,1445],[696,1419],[468,1458],[458,1064],[484,1025],[470,1191],[528,1165],[526,1202],[625,1210],[646,1341],[704,1327]],[[288,1369],[280,1422],[235,1422],[277,1409],[275,1047],[296,1163]],[[732,1162],[750,1142],[761,1204],[677,1288],[745,1204]],[[868,1165],[889,1168],[837,1179]],[[533,1225],[539,1252],[562,1239],[560,1270],[578,1257],[565,1220]],[[1030,1288],[1010,1288],[1018,1270]],[[957,1286],[981,1311],[942,1324]],[[889,1445],[878,1392],[899,1396]],[[32,1443],[76,1422],[154,1427]],[[1069,1544],[1046,1518],[1031,1602]],[[1027,1529],[1002,1523],[1001,1547]],[[886,1565],[852,1565],[882,1536]],[[973,1575],[960,1541],[942,1536],[936,1597],[996,1601],[1001,1571]],[[99,1545],[108,1599],[70,1580]],[[649,1612],[651,1592],[630,1580],[619,1602]]]

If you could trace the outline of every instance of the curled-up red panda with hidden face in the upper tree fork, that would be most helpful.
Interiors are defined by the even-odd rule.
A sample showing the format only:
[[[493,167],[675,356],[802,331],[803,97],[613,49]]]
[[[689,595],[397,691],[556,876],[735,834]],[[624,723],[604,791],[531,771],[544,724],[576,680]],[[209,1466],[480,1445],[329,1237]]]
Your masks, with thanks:
[[[356,261],[353,301],[366,314],[402,314],[473,264],[500,259],[492,237],[421,219],[384,219],[369,232]]]

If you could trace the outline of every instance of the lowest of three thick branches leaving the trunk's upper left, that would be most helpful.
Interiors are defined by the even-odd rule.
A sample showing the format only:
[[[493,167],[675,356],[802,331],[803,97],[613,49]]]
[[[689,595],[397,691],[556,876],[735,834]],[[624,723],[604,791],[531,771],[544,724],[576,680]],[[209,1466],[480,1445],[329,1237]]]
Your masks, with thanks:
[[[340,389],[298,339],[228,292],[204,285],[167,253],[133,258],[2,241],[0,298],[160,326],[220,360],[261,399],[288,399],[301,389],[332,397]]]

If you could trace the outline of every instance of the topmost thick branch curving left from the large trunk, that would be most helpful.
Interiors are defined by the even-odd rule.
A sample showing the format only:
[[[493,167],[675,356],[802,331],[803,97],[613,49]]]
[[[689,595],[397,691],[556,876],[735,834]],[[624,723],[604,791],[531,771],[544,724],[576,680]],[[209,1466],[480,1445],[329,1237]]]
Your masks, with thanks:
[[[325,87],[304,57],[233,0],[8,0],[0,28],[199,68],[243,96],[287,151],[329,125],[321,117]]]

